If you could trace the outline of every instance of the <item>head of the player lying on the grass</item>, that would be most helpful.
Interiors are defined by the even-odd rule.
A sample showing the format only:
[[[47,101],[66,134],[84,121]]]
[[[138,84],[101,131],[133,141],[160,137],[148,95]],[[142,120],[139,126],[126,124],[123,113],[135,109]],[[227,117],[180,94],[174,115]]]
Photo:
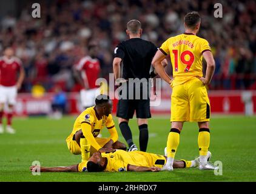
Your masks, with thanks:
[[[105,169],[104,161],[100,152],[93,153],[87,162],[88,172],[103,172]]]

